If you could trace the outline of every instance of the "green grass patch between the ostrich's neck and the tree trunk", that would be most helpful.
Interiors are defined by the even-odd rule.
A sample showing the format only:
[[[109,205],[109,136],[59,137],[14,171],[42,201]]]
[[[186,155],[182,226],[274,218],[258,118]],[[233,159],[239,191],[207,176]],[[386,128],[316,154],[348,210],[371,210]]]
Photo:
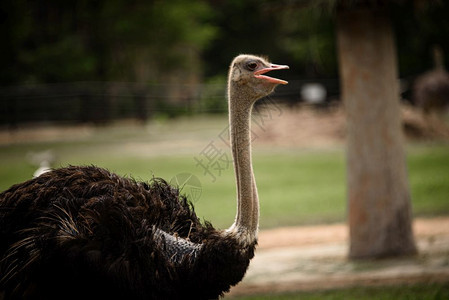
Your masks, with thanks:
[[[254,165],[263,227],[343,220],[341,151],[257,154]]]

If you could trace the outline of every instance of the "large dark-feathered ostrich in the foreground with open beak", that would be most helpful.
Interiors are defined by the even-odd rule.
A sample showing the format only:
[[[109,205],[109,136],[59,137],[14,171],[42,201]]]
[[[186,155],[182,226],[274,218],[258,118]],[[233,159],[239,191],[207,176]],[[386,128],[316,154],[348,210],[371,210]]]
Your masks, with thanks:
[[[44,173],[0,194],[0,299],[211,299],[242,280],[257,244],[259,200],[250,115],[287,69],[253,55],[229,69],[237,213],[226,230],[200,222],[162,179],[95,166]]]

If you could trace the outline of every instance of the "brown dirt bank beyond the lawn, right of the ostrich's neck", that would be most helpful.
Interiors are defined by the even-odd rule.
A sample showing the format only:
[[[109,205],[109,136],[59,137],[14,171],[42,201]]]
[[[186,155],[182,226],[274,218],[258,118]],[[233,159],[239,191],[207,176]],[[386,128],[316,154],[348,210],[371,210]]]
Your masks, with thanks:
[[[401,116],[407,141],[449,140],[449,125],[444,118],[445,114],[442,114],[441,118],[425,117],[417,108],[403,104]],[[268,108],[261,110],[259,116],[253,117],[252,131],[257,136],[256,145],[332,146],[345,140],[345,112],[341,105],[327,108]]]

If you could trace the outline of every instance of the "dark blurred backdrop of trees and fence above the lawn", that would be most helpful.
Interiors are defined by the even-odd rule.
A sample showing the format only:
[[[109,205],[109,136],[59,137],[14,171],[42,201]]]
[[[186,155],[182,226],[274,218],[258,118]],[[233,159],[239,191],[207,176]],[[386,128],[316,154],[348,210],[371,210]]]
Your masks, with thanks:
[[[2,1],[0,125],[223,113],[227,67],[240,53],[292,66],[277,101],[304,101],[308,82],[338,101],[333,2]],[[413,103],[432,49],[449,49],[449,5],[393,2],[402,92]]]

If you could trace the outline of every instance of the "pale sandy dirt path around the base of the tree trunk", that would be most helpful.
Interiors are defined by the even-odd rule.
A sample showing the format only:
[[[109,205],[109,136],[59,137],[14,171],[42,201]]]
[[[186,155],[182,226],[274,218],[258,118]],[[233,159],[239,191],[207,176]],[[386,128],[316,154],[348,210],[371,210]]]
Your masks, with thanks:
[[[350,261],[344,224],[262,231],[245,278],[227,297],[367,285],[449,284],[449,217],[417,219],[414,233],[416,256]]]

